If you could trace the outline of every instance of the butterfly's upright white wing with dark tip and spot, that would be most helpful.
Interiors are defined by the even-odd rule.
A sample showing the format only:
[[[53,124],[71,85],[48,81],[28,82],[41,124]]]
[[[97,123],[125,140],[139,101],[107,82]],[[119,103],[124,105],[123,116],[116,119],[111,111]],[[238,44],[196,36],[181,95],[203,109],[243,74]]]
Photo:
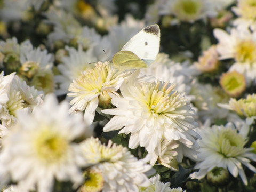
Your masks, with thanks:
[[[160,29],[158,25],[151,25],[134,35],[121,51],[131,51],[150,65],[159,52]]]

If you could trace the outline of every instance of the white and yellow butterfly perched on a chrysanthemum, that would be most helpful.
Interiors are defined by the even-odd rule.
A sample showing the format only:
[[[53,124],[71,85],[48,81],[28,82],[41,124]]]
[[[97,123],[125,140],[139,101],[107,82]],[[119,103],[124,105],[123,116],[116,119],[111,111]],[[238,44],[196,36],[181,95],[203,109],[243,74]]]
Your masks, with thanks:
[[[148,67],[159,52],[160,29],[158,25],[150,25],[134,35],[113,56],[113,65],[117,69],[131,70]]]

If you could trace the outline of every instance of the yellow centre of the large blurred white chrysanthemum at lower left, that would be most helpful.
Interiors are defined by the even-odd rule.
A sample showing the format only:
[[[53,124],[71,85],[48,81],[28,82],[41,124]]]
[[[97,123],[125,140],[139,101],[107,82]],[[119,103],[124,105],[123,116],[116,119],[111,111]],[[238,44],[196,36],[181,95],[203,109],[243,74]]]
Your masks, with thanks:
[[[35,138],[35,148],[42,161],[51,163],[59,161],[66,154],[68,141],[60,134],[52,132],[50,128],[46,128]]]

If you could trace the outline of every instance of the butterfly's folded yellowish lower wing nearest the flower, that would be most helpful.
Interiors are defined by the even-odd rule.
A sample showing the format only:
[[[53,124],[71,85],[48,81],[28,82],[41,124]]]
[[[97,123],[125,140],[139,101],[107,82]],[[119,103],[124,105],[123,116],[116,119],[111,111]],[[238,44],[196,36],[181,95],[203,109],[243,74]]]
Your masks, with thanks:
[[[131,51],[119,51],[113,57],[114,67],[121,70],[140,69],[148,67],[137,55]]]

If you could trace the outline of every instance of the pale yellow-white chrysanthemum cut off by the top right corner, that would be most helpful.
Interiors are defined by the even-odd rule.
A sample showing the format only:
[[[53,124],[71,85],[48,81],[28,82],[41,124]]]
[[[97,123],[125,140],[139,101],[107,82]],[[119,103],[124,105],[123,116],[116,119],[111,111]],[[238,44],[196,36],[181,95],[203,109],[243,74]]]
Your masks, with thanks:
[[[234,25],[239,29],[256,30],[256,2],[254,0],[238,0],[237,6],[232,7],[232,11],[238,16]]]

